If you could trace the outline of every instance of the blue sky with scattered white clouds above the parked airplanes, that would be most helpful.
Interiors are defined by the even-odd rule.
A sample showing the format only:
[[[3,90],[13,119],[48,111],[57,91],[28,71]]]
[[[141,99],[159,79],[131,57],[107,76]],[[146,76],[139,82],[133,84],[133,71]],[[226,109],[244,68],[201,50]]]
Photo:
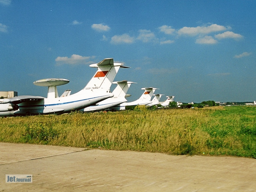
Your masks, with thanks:
[[[254,101],[256,1],[0,0],[0,90],[47,96],[34,81],[64,78],[81,90],[104,58],[114,79],[175,101]],[[115,86],[111,87],[113,90]]]

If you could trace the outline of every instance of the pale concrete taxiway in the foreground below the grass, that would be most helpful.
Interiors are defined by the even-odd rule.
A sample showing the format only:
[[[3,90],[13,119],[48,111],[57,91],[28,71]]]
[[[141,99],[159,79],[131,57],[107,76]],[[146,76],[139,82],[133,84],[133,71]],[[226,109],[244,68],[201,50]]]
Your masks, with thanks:
[[[256,159],[0,143],[3,191],[256,191]]]

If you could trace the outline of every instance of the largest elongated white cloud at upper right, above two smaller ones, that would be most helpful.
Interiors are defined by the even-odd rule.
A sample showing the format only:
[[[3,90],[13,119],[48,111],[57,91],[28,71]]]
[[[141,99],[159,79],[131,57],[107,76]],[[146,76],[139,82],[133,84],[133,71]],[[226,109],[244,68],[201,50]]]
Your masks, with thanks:
[[[190,35],[190,36],[195,36],[198,34],[208,34],[212,32],[217,32],[217,31],[225,31],[227,30],[226,27],[217,25],[217,24],[212,24],[210,26],[203,26],[203,27],[183,27],[178,30],[179,35]]]

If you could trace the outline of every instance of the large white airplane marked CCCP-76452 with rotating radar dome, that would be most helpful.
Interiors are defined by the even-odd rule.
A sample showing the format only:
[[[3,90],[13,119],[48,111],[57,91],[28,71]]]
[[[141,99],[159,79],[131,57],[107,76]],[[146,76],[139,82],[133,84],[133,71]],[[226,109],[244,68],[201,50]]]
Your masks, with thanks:
[[[66,90],[62,97],[58,97],[57,86],[67,84],[69,80],[50,78],[35,81],[35,85],[48,86],[47,98],[40,96],[18,96],[0,99],[0,116],[68,113],[113,97],[114,94],[110,93],[108,88],[110,86],[107,84],[109,84],[110,78],[114,79],[116,70],[121,65],[123,64],[114,63],[113,58],[104,59],[97,64],[90,65],[90,67],[97,67],[98,71],[86,87],[72,95],[70,95],[71,90]],[[110,69],[114,70],[110,71]],[[108,75],[109,78],[106,78]]]

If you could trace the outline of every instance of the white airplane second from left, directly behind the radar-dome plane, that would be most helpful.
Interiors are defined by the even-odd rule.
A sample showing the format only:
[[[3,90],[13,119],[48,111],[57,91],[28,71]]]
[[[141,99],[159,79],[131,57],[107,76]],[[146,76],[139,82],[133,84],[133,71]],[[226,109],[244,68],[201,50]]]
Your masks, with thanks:
[[[126,80],[113,82],[113,84],[117,84],[117,87],[112,92],[114,94],[114,97],[103,100],[97,103],[96,106],[90,106],[90,107],[81,109],[81,111],[97,112],[97,111],[106,110],[112,107],[118,107],[118,105],[120,106],[121,103],[127,102],[127,100],[125,99],[126,93],[132,83],[134,82],[130,82]]]

